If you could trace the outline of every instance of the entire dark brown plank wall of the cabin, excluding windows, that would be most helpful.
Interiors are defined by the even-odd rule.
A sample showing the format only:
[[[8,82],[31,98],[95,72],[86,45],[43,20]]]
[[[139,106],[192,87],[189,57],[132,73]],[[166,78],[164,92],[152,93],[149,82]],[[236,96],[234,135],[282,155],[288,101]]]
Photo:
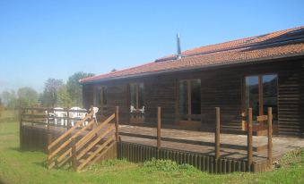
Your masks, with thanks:
[[[129,83],[143,82],[144,121],[157,123],[157,106],[161,106],[162,125],[177,126],[178,80],[201,79],[201,128],[214,130],[214,107],[221,107],[222,130],[242,131],[240,114],[244,112],[244,79],[248,75],[278,74],[279,135],[301,136],[304,132],[303,58],[271,63],[242,64],[195,71],[176,71],[141,78],[115,79],[83,85],[83,105],[93,102],[92,86],[107,86],[109,113],[119,106],[121,123],[129,122]],[[109,114],[108,114],[109,115]],[[180,124],[179,124],[180,125]],[[180,127],[179,127],[180,128]],[[182,129],[191,129],[186,126]],[[192,128],[193,129],[193,128]]]

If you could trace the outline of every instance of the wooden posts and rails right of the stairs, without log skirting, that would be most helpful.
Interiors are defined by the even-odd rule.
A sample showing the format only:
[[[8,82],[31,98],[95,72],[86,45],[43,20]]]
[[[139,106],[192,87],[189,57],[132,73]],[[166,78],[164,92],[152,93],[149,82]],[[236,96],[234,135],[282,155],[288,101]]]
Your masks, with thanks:
[[[135,137],[135,138],[148,138],[148,139],[155,139],[157,141],[157,149],[161,149],[161,141],[167,142],[175,142],[175,143],[184,143],[190,145],[198,145],[198,146],[213,146],[214,147],[214,157],[215,160],[221,158],[221,148],[229,148],[229,149],[236,149],[236,150],[243,150],[248,152],[248,171],[252,171],[253,167],[253,152],[261,152],[267,149],[267,160],[268,165],[272,163],[272,108],[268,108],[268,114],[263,116],[258,116],[256,121],[267,121],[268,122],[268,142],[266,145],[253,145],[253,133],[252,133],[252,109],[248,109],[248,131],[247,131],[247,138],[248,138],[248,145],[234,145],[234,144],[225,144],[221,143],[221,110],[220,107],[215,108],[215,131],[214,131],[214,142],[207,142],[207,141],[200,141],[200,140],[189,140],[189,139],[182,139],[182,138],[168,138],[168,137],[161,137],[161,107],[157,108],[157,136],[151,135],[143,135],[138,133],[130,133],[130,132],[119,132],[121,136],[127,137]]]

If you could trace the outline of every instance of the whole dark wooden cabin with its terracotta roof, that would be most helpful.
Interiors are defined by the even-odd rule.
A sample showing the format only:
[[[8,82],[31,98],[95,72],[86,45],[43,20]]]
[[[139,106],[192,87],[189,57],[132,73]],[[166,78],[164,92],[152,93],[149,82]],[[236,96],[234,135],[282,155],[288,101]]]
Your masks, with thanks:
[[[274,134],[304,135],[304,27],[201,46],[122,71],[81,79],[83,105],[100,108],[100,118],[119,106],[119,121],[155,125],[161,106],[163,127],[246,131],[273,107]],[[263,123],[254,123],[262,130]]]

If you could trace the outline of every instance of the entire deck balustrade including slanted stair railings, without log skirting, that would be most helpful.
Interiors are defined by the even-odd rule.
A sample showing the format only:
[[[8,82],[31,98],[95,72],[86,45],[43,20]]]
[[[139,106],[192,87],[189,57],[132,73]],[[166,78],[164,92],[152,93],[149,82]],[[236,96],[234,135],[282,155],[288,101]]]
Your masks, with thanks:
[[[22,127],[23,122],[31,121],[31,123],[36,123],[38,119],[45,118],[46,121],[44,124],[47,125],[48,130],[51,126],[50,119],[51,116],[47,113],[47,115],[43,114],[35,114],[35,111],[44,111],[44,108],[29,108],[29,109],[20,109],[20,126]],[[48,109],[49,110],[49,109]],[[62,111],[62,110],[59,110]],[[161,150],[164,148],[162,147],[161,141],[168,141],[168,142],[176,142],[176,143],[184,143],[184,144],[192,144],[192,145],[199,145],[199,146],[213,146],[214,147],[214,155],[213,155],[213,167],[215,171],[220,170],[220,164],[222,159],[225,159],[221,156],[221,148],[230,148],[230,149],[237,149],[237,150],[244,150],[247,151],[247,160],[246,161],[246,171],[254,171],[255,161],[253,157],[254,152],[258,152],[261,150],[265,150],[267,148],[267,163],[268,166],[272,164],[273,161],[273,142],[272,142],[272,135],[273,135],[273,114],[272,108],[268,108],[267,115],[257,116],[257,122],[260,121],[267,121],[267,144],[264,146],[254,146],[253,145],[253,115],[252,109],[249,108],[247,112],[247,143],[248,145],[232,145],[232,144],[225,144],[221,143],[221,109],[219,107],[215,108],[215,130],[214,130],[214,142],[204,142],[200,140],[189,140],[189,139],[181,139],[181,138],[168,138],[161,136],[161,107],[157,107],[157,127],[156,127],[156,136],[150,135],[142,135],[142,134],[134,134],[130,132],[120,132],[118,129],[118,107],[115,108],[115,113],[110,115],[107,120],[103,121],[102,123],[98,124],[97,126],[93,126],[95,121],[93,118],[93,111],[91,108],[91,112],[88,113],[83,120],[77,121],[73,127],[69,130],[66,130],[64,134],[56,138],[53,142],[50,140],[51,134],[48,138],[48,164],[49,168],[52,168],[56,165],[62,166],[65,163],[72,163],[72,166],[75,171],[80,171],[91,162],[94,162],[100,158],[101,155],[105,154],[105,150],[109,149],[109,146],[114,144],[114,142],[119,142],[121,140],[120,136],[127,136],[127,137],[136,137],[136,138],[149,138],[156,140],[156,150],[158,153],[161,153]],[[30,113],[29,113],[30,112]],[[75,110],[71,110],[68,113],[77,112]],[[70,121],[74,120],[73,118],[65,117],[67,120],[67,124],[70,125]],[[85,121],[89,121],[87,126],[83,126],[80,130],[77,129]],[[109,125],[110,121],[114,121],[114,124]],[[103,128],[106,128],[103,130]],[[90,131],[86,131],[89,130]],[[101,131],[102,130],[102,131]],[[101,133],[100,133],[101,131]],[[83,132],[85,135],[82,138],[79,138]],[[113,135],[109,134],[111,132],[115,132]],[[22,131],[21,131],[22,134]],[[21,136],[22,138],[22,136]],[[105,140],[104,140],[105,139]],[[104,140],[103,143],[97,148],[96,150],[91,151],[91,149],[98,144],[100,141]],[[22,139],[21,139],[22,142]],[[21,143],[22,144],[22,143]],[[101,148],[100,148],[101,147]],[[84,157],[84,155],[88,154],[91,151],[91,155]],[[161,156],[160,154],[157,154]],[[85,158],[85,159],[84,159]],[[83,159],[83,160],[82,160]],[[56,161],[55,161],[56,160]]]

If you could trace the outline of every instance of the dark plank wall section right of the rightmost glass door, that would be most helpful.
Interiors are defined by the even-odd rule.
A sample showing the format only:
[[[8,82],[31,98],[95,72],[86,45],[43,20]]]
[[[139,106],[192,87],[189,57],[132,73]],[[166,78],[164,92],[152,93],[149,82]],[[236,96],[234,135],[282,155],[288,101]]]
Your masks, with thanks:
[[[304,132],[303,68],[285,66],[279,77],[279,134],[301,136]]]

